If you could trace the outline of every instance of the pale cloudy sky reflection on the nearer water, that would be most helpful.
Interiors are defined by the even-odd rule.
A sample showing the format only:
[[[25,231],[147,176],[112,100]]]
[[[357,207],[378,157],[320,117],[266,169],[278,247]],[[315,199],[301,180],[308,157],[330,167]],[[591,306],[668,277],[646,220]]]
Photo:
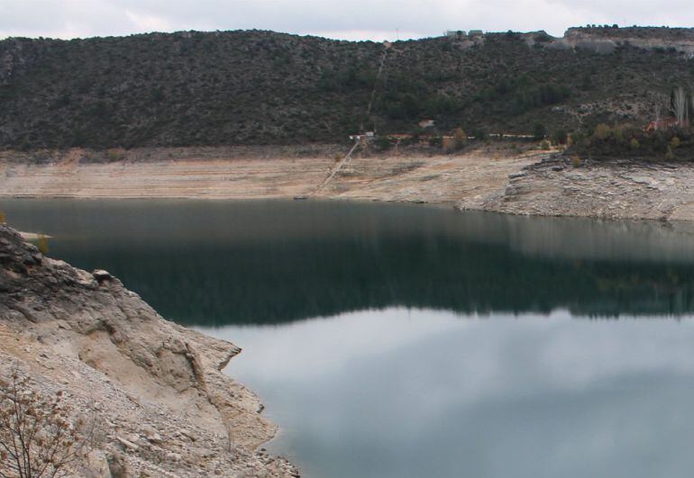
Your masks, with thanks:
[[[687,476],[694,322],[361,311],[205,329],[309,476]],[[656,470],[659,473],[655,473]],[[662,474],[663,470],[667,473]]]

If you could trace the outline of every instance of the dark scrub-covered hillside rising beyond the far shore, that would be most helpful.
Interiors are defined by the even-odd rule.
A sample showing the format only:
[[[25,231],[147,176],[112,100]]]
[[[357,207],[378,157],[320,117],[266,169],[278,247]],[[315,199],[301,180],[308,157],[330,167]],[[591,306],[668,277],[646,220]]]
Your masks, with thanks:
[[[0,148],[336,142],[362,123],[408,132],[428,117],[469,133],[641,124],[690,84],[692,51],[692,31],[637,28],[389,49],[259,31],[14,38],[0,41]]]

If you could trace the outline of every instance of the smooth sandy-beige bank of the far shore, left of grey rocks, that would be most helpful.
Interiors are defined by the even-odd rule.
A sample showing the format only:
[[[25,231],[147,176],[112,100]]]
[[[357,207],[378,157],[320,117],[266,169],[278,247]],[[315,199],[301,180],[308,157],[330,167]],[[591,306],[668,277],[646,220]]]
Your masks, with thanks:
[[[507,184],[509,174],[543,154],[509,154],[479,149],[455,156],[425,154],[360,157],[331,173],[335,157],[244,149],[153,149],[123,153],[120,160],[95,163],[80,150],[42,156],[0,156],[0,196],[77,198],[262,199],[317,196],[425,203],[479,199]],[[341,149],[342,154],[345,151]],[[38,154],[38,153],[37,153]]]

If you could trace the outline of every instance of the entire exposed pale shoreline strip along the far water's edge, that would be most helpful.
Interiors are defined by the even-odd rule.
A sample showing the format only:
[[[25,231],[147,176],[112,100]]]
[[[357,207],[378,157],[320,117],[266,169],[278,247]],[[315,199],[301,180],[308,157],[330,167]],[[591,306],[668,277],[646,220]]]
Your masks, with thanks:
[[[407,150],[346,161],[340,146],[82,149],[0,153],[0,198],[292,199],[429,203],[461,210],[694,221],[694,166],[583,161],[492,143],[459,154]],[[342,156],[341,156],[342,155]]]

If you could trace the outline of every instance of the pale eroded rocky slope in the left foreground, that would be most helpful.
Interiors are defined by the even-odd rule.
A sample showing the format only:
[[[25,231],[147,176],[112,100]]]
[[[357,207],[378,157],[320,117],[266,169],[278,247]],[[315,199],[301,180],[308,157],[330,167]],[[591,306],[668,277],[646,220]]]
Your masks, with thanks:
[[[0,377],[95,417],[93,476],[292,476],[276,427],[221,370],[240,349],[162,319],[105,271],[44,257],[0,224]],[[118,468],[119,470],[116,470]],[[116,473],[117,472],[117,473]]]

